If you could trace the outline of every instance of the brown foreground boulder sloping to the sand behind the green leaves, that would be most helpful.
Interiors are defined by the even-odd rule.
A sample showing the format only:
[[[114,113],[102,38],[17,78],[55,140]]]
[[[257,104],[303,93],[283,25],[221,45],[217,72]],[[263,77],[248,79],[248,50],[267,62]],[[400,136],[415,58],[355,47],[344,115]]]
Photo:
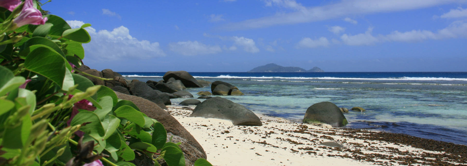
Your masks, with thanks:
[[[195,161],[199,158],[206,159],[203,147],[172,115],[149,100],[118,92],[116,94],[119,99],[133,101],[142,113],[148,115],[149,118],[161,122],[165,130],[167,130],[167,138],[173,135],[173,142],[182,142],[179,146],[184,153],[185,164],[187,166],[194,165]]]

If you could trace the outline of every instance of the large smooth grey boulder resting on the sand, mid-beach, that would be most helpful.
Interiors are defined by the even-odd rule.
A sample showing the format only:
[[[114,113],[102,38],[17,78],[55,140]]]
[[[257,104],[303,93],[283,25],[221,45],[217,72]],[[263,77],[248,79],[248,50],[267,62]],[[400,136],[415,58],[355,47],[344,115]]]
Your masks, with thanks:
[[[195,107],[191,117],[217,118],[232,121],[237,126],[262,126],[255,113],[230,100],[213,97]]]

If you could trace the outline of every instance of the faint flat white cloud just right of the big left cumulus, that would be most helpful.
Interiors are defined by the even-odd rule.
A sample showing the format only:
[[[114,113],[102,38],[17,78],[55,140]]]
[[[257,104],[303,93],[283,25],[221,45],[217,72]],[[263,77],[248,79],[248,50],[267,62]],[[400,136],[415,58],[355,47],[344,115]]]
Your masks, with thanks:
[[[209,46],[198,41],[190,40],[169,43],[169,48],[171,51],[180,53],[182,55],[212,54],[222,52],[220,46]]]

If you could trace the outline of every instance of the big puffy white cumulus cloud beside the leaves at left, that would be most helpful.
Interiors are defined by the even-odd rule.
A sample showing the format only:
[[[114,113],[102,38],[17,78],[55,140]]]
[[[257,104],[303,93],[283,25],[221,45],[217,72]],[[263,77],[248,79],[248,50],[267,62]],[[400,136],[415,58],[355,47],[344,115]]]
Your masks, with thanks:
[[[84,22],[78,20],[66,21],[71,28],[81,27]],[[165,56],[158,42],[138,40],[129,34],[127,27],[117,27],[112,31],[85,28],[91,35],[91,42],[83,44],[86,58],[93,60],[120,60],[127,58],[149,59]]]

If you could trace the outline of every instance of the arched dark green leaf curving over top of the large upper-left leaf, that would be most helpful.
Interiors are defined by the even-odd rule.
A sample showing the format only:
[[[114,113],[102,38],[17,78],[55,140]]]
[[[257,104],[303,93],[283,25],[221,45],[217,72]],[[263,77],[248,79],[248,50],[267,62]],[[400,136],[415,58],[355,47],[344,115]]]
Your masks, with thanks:
[[[39,37],[39,36],[32,37],[32,38],[28,39],[26,42],[24,42],[24,45],[21,46],[21,51],[20,51],[19,55],[22,56],[22,57],[28,55],[28,53],[30,53],[30,51],[32,50],[30,48],[30,46],[34,46],[34,45],[48,46],[51,49],[53,49],[55,52],[57,52],[60,55],[62,55],[63,57],[65,57],[65,54],[60,49],[60,47],[57,45],[57,43],[53,42],[50,39],[47,39],[47,38],[44,38],[44,37]]]

